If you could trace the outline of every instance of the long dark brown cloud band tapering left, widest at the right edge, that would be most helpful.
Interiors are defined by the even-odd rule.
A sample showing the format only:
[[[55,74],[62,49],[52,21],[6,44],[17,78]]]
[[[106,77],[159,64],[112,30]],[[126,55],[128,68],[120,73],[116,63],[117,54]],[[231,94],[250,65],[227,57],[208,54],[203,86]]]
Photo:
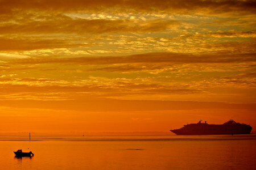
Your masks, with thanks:
[[[242,63],[255,62],[255,54],[182,54],[144,53],[130,56],[79,57],[79,58],[24,58],[11,60],[9,64],[60,63],[80,65],[108,65],[120,63]]]

